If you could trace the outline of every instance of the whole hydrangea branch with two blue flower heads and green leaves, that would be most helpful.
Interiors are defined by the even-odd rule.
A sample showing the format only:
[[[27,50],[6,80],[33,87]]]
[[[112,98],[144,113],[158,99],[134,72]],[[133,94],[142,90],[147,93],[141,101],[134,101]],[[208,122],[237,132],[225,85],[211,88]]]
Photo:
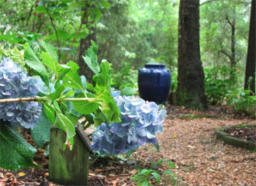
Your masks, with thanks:
[[[42,136],[42,144],[50,141],[50,125],[53,125],[67,134],[64,145],[70,149],[76,135],[74,126],[83,116],[88,119],[85,128],[94,122],[100,124],[93,134],[92,148],[101,154],[129,153],[144,143],[157,143],[156,133],[162,132],[166,111],[154,102],[111,91],[112,69],[107,61],[98,64],[98,46],[94,42],[84,57],[85,64],[95,73],[92,84],[79,76],[78,64],[73,61],[59,64],[54,47],[43,40],[40,45],[40,54],[34,53],[28,43],[22,46],[25,63],[22,67],[26,70],[29,67],[30,74],[39,76],[38,79],[30,77],[7,57],[0,62],[0,141],[5,146],[5,150],[0,150],[0,167],[8,170],[36,167],[33,164],[36,149],[26,143],[14,126],[30,129],[38,122],[40,133],[45,129],[49,134],[48,139]],[[129,88],[126,91],[131,94]]]

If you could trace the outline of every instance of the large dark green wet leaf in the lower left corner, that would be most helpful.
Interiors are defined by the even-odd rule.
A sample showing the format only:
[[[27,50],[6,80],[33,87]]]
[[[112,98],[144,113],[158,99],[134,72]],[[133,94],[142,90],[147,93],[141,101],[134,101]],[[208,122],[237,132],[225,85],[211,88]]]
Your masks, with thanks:
[[[9,122],[1,121],[0,125],[0,167],[8,170],[38,167],[33,164],[36,148],[27,143]]]

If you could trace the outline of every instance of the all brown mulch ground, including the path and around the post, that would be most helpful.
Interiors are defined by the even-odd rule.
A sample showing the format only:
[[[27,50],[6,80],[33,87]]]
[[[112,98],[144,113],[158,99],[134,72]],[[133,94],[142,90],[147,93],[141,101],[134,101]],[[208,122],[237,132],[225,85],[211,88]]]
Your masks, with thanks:
[[[168,105],[164,133],[157,135],[160,152],[147,144],[130,160],[99,157],[90,165],[89,185],[135,185],[130,177],[138,168],[151,168],[159,174],[171,170],[173,177],[163,175],[161,185],[256,185],[256,153],[225,144],[214,135],[217,127],[247,122],[256,120],[230,108],[210,107],[199,112]],[[36,162],[43,168],[0,169],[0,185],[58,185],[48,181],[47,158],[40,150]],[[171,160],[175,168],[166,162],[158,164],[158,160]],[[154,180],[152,183],[157,185]]]

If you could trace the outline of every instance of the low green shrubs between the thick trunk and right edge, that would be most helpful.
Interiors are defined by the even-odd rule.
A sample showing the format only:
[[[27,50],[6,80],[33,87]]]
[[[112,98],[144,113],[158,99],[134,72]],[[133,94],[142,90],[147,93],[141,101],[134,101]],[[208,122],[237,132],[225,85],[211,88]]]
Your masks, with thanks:
[[[244,112],[247,115],[256,114],[256,97],[248,90],[239,90],[230,86],[230,69],[226,65],[205,69],[205,90],[207,101],[211,105],[230,105],[237,112]]]

